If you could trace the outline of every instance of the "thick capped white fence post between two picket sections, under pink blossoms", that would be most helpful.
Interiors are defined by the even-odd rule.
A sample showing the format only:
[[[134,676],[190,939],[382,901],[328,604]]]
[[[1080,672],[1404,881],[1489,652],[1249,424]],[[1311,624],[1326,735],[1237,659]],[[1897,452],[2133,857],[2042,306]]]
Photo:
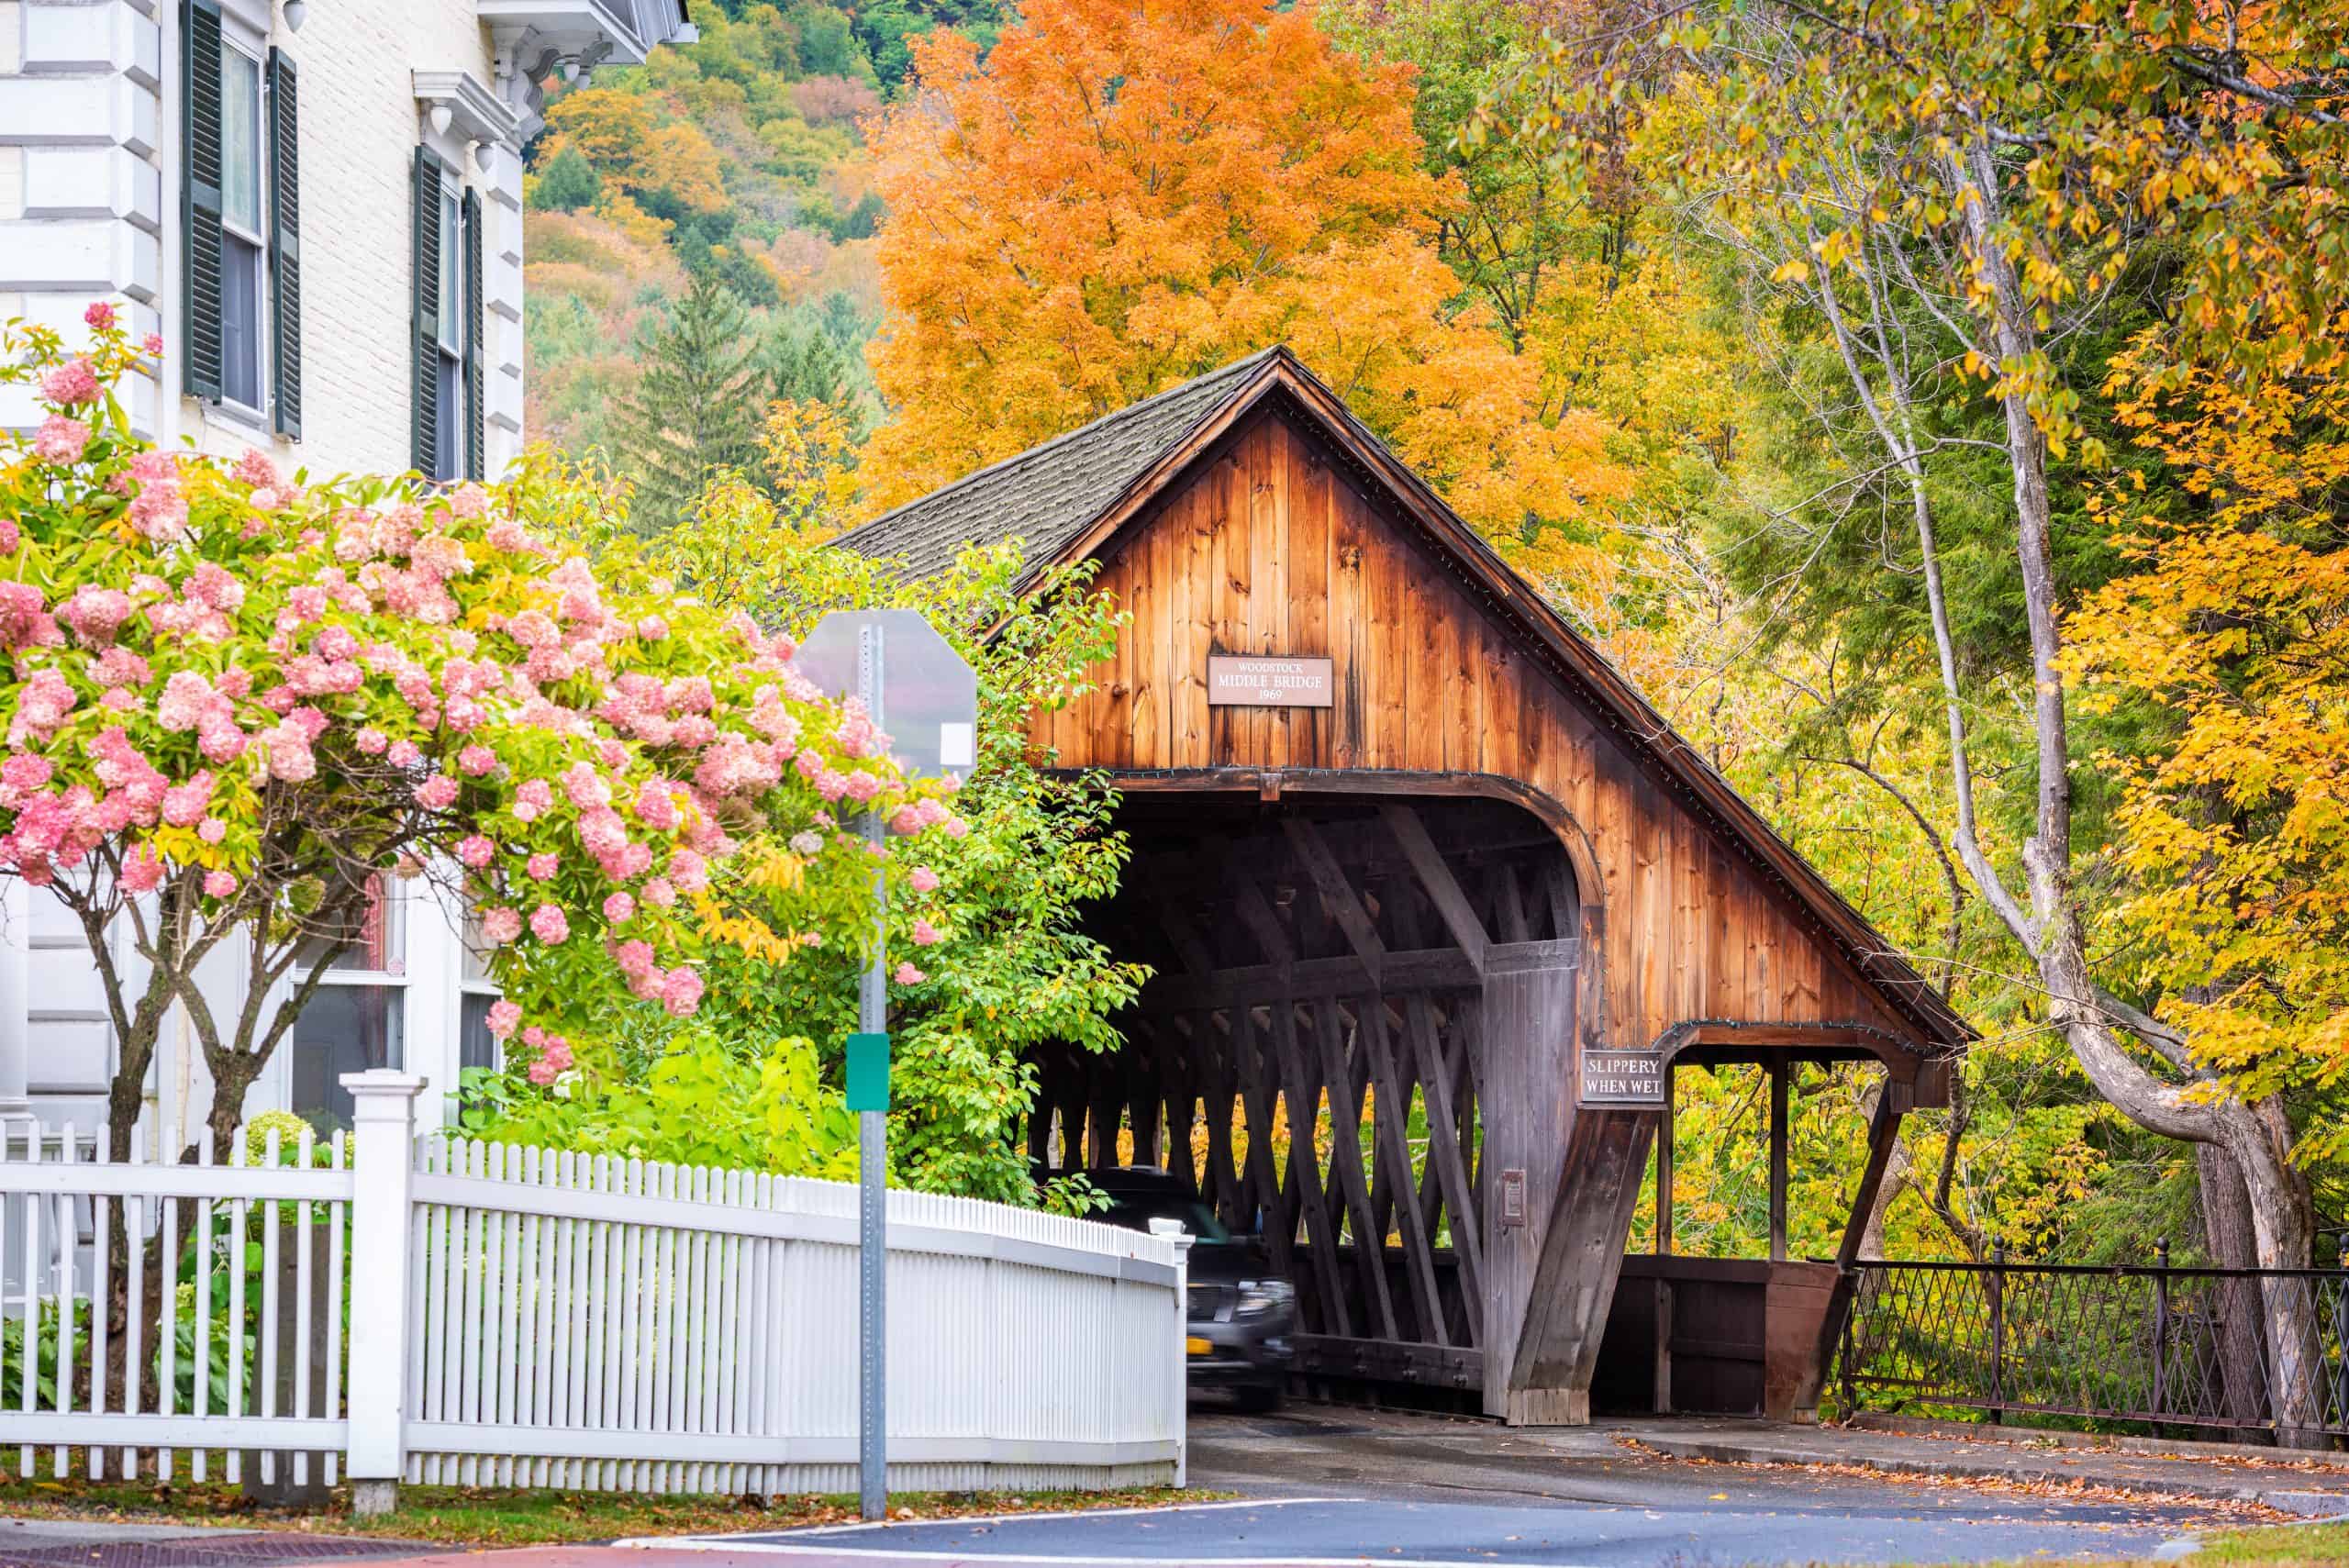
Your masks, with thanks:
[[[352,1099],[350,1195],[350,1507],[388,1514],[406,1460],[409,1202],[416,1183],[416,1096],[425,1080],[345,1073]]]

